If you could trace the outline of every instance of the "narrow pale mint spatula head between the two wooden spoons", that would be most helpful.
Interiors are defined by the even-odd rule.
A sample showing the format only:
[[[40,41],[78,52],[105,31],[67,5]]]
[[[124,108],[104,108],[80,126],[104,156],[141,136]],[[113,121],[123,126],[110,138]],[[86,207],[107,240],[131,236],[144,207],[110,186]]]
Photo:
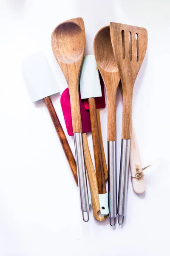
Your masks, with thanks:
[[[102,96],[99,71],[94,55],[87,55],[83,58],[80,72],[80,93],[81,99]]]

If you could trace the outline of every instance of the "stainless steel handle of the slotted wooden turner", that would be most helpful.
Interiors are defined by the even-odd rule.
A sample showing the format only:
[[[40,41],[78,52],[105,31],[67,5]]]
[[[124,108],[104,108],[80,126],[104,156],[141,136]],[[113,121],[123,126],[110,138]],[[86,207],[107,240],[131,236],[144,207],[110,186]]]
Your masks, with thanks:
[[[119,218],[120,225],[123,224],[124,216],[126,215],[129,160],[130,160],[130,140],[122,140],[121,159],[120,159],[120,176],[119,176],[118,212],[117,212],[119,216],[123,216],[121,223]]]

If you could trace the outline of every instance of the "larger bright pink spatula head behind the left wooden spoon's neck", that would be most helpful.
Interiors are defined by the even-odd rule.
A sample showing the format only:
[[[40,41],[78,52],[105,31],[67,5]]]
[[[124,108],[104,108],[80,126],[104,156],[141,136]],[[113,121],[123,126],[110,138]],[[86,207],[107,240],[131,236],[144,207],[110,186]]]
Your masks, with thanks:
[[[70,94],[69,89],[65,89],[60,98],[62,113],[65,119],[65,125],[67,128],[68,135],[73,136],[73,126],[71,119],[71,105],[70,105]],[[90,113],[85,109],[85,106],[81,100],[79,93],[80,112],[82,119],[82,132],[86,133],[91,131]]]

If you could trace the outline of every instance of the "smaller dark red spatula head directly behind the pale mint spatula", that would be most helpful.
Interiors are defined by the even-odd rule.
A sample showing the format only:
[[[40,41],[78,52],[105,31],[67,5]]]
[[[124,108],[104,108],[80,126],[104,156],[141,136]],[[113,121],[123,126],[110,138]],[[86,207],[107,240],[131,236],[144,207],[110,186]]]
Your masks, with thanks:
[[[99,78],[100,78],[100,85],[102,89],[102,97],[95,98],[96,108],[105,108],[106,106],[105,89],[104,89],[104,82],[103,82],[102,76],[100,75],[100,72],[99,72]],[[88,99],[84,99],[84,105],[85,105],[85,109],[89,110]]]

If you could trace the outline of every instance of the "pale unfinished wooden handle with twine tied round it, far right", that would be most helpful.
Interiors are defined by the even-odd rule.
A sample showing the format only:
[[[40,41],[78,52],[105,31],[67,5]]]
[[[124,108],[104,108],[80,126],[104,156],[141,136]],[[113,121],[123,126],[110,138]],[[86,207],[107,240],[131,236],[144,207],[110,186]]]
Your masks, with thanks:
[[[131,141],[130,141],[130,172],[132,177],[133,190],[136,194],[145,192],[144,176],[136,178],[136,172],[142,169],[141,158],[139,153],[138,142],[134,130],[133,122],[131,128]]]

